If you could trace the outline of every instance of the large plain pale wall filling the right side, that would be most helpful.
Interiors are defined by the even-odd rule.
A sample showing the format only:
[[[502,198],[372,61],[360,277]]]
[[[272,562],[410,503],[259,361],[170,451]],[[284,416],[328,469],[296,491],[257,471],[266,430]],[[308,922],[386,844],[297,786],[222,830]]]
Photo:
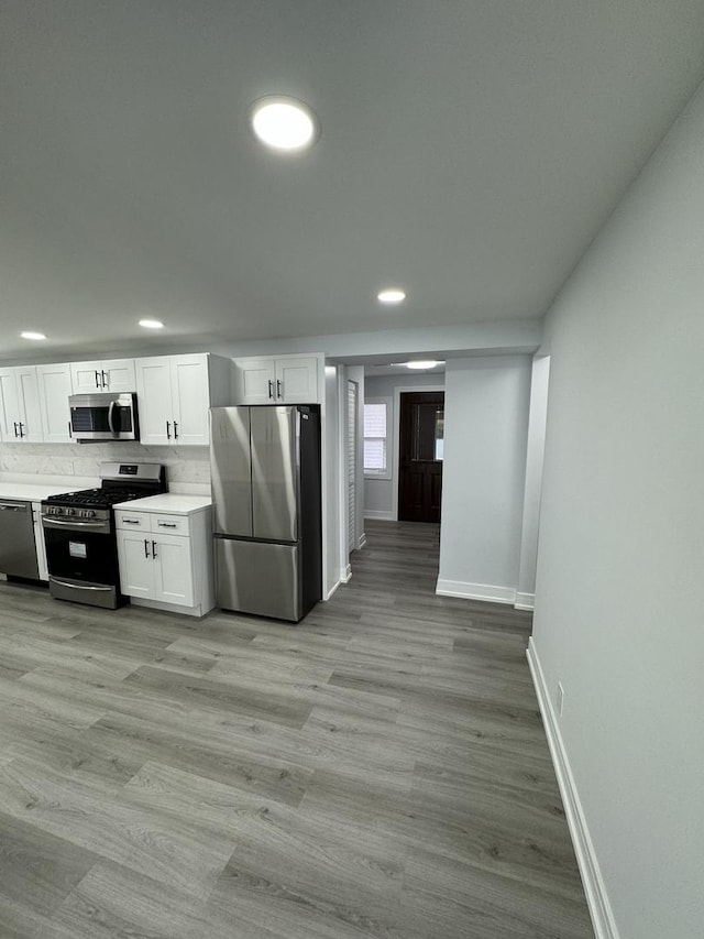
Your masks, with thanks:
[[[704,91],[549,326],[535,652],[620,939],[701,939]]]

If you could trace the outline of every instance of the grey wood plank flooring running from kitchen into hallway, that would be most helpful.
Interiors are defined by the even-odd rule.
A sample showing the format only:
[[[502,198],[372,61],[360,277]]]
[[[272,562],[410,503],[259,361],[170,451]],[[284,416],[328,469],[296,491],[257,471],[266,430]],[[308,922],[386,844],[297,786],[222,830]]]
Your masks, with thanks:
[[[0,585],[2,939],[593,937],[530,616],[367,536],[297,626]]]

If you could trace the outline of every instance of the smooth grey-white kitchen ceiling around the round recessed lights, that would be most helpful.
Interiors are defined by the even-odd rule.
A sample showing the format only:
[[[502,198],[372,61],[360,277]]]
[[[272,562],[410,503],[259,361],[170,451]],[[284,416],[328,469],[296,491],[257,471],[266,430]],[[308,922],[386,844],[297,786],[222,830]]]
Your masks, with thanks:
[[[701,0],[0,0],[0,359],[540,317],[703,48]]]

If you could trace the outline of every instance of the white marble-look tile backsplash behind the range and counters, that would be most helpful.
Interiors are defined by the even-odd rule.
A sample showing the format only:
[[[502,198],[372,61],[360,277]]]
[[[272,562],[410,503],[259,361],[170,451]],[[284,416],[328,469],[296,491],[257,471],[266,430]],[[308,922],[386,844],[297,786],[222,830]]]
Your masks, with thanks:
[[[208,447],[145,447],[142,444],[0,444],[0,472],[22,477],[98,477],[105,460],[155,462],[166,467],[169,489],[206,492]]]

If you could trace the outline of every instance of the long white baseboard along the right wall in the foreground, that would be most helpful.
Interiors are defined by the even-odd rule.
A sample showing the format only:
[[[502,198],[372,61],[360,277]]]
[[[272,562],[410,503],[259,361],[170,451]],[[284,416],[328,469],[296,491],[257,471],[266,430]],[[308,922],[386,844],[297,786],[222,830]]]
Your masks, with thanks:
[[[619,939],[618,929],[616,928],[616,922],[614,920],[614,914],[606,894],[604,878],[602,877],[598,861],[596,860],[596,853],[586,826],[586,819],[584,817],[584,810],[582,809],[580,795],[576,790],[576,786],[574,785],[574,777],[572,776],[570,761],[568,760],[564,742],[562,741],[562,734],[560,733],[560,725],[552,707],[552,699],[546,685],[542,666],[540,665],[538,651],[536,649],[532,636],[528,641],[527,655],[530,674],[532,675],[532,681],[536,686],[538,703],[540,705],[540,713],[542,714],[542,721],[548,736],[550,755],[552,756],[552,763],[558,777],[558,785],[560,786],[560,794],[562,796],[568,825],[570,827],[570,834],[572,836],[574,853],[576,854],[576,861],[582,875],[582,883],[584,884],[584,893],[586,894],[586,903],[590,916],[592,917],[594,933],[596,939]]]

